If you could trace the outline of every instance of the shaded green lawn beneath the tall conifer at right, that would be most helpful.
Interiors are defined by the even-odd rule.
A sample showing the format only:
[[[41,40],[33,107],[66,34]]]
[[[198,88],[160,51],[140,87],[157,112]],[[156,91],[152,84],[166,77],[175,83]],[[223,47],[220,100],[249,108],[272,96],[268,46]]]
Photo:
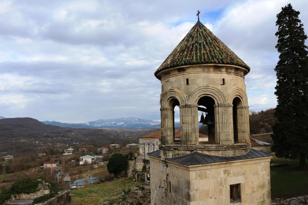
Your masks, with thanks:
[[[272,197],[289,198],[308,194],[308,170],[299,170],[299,160],[274,156],[271,163],[286,164],[286,166],[270,167]]]

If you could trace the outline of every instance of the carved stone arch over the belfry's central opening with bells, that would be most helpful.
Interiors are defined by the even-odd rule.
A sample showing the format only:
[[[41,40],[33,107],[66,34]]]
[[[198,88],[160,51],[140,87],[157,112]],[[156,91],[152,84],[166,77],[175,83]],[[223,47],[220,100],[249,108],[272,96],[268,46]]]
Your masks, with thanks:
[[[215,104],[223,104],[226,102],[225,96],[215,87],[212,86],[199,86],[193,90],[188,98],[190,104],[197,104],[198,100],[204,96],[213,98]]]

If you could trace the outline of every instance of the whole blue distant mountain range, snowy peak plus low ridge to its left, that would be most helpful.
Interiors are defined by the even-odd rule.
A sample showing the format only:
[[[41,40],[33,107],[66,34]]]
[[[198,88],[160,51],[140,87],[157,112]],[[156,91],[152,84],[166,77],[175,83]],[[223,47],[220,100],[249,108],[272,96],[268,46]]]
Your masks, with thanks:
[[[99,119],[87,123],[61,123],[55,121],[43,121],[48,125],[55,125],[60,127],[72,127],[72,128],[124,128],[124,129],[148,129],[148,128],[160,128],[159,121],[138,119],[132,117],[124,117],[117,119]],[[176,122],[175,127],[179,127],[180,123]]]

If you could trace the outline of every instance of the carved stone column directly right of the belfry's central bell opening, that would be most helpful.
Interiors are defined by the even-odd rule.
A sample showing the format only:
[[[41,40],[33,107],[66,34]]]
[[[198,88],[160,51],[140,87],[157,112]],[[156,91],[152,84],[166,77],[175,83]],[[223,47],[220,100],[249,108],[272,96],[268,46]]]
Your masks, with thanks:
[[[232,104],[214,105],[217,144],[233,144]]]

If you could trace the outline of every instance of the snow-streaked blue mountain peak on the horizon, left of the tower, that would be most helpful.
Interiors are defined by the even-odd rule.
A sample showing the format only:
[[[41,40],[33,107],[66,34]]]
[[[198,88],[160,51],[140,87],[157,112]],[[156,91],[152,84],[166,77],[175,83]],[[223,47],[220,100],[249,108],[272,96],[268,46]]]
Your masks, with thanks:
[[[132,117],[124,117],[117,119],[99,119],[91,122],[85,123],[91,127],[109,127],[109,128],[145,128],[145,127],[155,127],[160,125],[159,121],[138,119]]]

